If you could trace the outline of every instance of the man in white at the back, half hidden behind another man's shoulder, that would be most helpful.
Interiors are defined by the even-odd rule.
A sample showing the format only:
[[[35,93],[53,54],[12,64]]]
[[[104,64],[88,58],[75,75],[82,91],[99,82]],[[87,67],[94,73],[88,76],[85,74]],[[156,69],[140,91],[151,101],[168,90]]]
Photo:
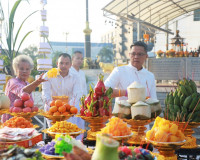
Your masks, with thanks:
[[[85,73],[80,70],[80,67],[83,64],[83,54],[80,51],[75,51],[72,54],[72,66],[70,70],[72,71],[73,74],[76,74],[79,79],[80,79],[80,84],[81,84],[81,96],[87,95],[87,85],[86,85],[86,78],[85,78]]]

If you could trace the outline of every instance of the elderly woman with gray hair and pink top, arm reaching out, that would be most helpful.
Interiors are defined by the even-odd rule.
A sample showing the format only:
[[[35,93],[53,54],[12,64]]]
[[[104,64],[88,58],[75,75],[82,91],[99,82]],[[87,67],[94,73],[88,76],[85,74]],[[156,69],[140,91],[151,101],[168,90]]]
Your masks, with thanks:
[[[42,79],[43,74],[41,74],[40,77],[32,83],[29,84],[27,82],[31,70],[33,69],[33,65],[32,59],[27,55],[19,55],[13,59],[12,66],[16,78],[10,79],[5,89],[5,95],[10,98],[10,107],[13,107],[15,99],[19,99],[23,92],[31,94],[40,83],[46,81]],[[10,117],[9,114],[4,114],[2,115],[1,121],[4,123]]]

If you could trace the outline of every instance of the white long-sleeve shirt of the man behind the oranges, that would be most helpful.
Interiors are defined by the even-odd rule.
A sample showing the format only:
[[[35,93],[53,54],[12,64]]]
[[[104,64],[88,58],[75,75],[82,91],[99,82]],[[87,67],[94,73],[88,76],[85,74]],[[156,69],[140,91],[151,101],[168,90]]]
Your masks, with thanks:
[[[48,78],[47,73],[44,77],[48,80],[42,83],[42,98],[46,105],[49,105],[52,101],[52,96],[68,96],[69,104],[79,108],[81,90],[77,75],[72,74],[69,70],[68,75],[65,77],[58,75],[55,78]]]

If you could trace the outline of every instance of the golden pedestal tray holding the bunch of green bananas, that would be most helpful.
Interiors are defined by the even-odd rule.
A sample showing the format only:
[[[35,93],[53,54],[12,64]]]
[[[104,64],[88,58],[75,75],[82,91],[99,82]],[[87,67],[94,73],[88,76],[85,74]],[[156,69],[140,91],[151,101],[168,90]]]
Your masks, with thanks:
[[[187,122],[176,122],[176,124],[186,137],[186,143],[181,148],[197,148],[196,138],[192,136],[194,133],[192,129],[200,126],[200,122],[189,122],[188,124]]]

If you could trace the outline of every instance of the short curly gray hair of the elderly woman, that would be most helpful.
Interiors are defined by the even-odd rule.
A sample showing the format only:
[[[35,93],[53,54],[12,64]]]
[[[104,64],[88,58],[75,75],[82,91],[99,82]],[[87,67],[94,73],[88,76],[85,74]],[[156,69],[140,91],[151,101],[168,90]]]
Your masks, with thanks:
[[[17,73],[17,69],[19,67],[19,63],[20,62],[27,62],[30,64],[30,69],[32,70],[33,67],[34,67],[34,63],[33,63],[33,60],[31,59],[31,57],[27,56],[27,55],[19,55],[17,57],[15,57],[13,59],[13,63],[12,63],[12,66],[13,66],[13,70],[15,72],[15,75]]]

